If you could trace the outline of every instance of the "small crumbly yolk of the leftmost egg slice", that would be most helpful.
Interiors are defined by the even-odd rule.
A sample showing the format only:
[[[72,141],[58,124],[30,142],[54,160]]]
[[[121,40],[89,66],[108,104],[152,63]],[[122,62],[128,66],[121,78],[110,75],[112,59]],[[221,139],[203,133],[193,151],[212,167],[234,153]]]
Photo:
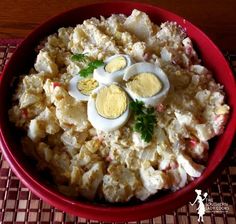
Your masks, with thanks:
[[[89,96],[91,92],[97,87],[98,82],[93,78],[81,79],[77,84],[78,90],[86,96]]]

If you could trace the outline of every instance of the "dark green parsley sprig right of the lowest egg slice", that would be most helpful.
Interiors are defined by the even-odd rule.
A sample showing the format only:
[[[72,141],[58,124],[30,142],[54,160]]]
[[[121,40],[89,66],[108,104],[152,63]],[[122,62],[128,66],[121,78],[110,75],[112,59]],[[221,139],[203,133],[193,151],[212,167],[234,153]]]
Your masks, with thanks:
[[[140,133],[145,142],[150,142],[156,125],[155,109],[145,107],[144,103],[138,100],[132,101],[130,108],[134,112],[134,131]]]

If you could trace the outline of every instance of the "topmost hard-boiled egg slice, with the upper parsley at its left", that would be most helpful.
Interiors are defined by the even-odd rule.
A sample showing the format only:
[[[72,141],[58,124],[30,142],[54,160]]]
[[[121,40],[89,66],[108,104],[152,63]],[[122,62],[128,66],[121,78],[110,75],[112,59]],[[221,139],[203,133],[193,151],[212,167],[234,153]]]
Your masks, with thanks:
[[[105,66],[94,70],[94,78],[102,84],[108,85],[120,82],[124,71],[132,64],[131,58],[125,54],[117,54],[105,60]]]

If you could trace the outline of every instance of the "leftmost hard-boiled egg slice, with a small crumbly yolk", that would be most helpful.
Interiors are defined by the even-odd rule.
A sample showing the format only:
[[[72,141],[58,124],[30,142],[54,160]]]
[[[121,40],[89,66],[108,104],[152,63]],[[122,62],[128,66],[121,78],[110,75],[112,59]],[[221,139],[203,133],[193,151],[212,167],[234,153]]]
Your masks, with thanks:
[[[98,87],[99,83],[92,77],[74,76],[69,82],[69,94],[76,100],[88,101],[89,95]]]

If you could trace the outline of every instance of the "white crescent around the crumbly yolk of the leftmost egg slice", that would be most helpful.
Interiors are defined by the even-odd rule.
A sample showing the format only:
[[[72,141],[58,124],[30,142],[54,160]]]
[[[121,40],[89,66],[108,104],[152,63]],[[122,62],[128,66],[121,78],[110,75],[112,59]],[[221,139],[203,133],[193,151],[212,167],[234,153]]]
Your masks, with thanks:
[[[84,78],[79,75],[76,75],[70,80],[68,93],[78,101],[88,101],[89,96],[81,93],[77,87],[78,82],[81,79],[84,79]]]

